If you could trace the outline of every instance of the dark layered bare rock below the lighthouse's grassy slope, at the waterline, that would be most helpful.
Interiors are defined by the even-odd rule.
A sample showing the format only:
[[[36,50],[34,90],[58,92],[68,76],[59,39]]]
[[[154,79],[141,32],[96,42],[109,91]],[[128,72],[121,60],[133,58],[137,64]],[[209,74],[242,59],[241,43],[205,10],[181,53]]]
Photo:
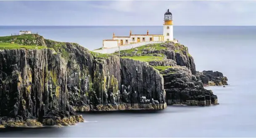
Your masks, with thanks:
[[[167,105],[208,106],[218,105],[217,96],[203,88],[185,66],[175,66],[161,71],[164,77]]]

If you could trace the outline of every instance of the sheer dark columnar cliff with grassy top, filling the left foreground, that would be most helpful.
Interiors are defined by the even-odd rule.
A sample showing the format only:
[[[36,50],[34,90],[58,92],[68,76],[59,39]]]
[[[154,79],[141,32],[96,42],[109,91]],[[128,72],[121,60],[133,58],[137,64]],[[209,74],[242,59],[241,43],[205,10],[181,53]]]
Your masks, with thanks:
[[[83,122],[76,111],[161,110],[165,101],[164,79],[146,62],[39,35],[0,37],[0,128],[72,125]]]

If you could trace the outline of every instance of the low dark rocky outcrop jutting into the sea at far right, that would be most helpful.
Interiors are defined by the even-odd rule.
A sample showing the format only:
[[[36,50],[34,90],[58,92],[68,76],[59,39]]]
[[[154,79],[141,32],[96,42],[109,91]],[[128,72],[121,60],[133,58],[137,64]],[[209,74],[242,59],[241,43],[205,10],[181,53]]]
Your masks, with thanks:
[[[200,79],[206,86],[220,86],[228,85],[227,77],[223,76],[221,72],[203,71],[196,72],[197,79]]]

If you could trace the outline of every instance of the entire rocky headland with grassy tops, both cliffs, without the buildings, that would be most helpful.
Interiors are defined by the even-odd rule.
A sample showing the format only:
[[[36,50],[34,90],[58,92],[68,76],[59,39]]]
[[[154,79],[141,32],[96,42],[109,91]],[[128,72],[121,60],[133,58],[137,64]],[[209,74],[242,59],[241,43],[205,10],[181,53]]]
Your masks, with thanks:
[[[0,128],[74,125],[84,121],[78,112],[218,105],[203,86],[227,84],[221,72],[197,72],[179,43],[118,55],[40,35],[0,37]]]

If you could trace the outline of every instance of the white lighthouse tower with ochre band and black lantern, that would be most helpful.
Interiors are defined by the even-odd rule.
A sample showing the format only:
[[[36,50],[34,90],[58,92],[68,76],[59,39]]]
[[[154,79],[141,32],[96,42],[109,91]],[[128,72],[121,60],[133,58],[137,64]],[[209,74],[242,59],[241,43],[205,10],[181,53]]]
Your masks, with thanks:
[[[164,41],[173,41],[172,13],[169,9],[164,13]]]

